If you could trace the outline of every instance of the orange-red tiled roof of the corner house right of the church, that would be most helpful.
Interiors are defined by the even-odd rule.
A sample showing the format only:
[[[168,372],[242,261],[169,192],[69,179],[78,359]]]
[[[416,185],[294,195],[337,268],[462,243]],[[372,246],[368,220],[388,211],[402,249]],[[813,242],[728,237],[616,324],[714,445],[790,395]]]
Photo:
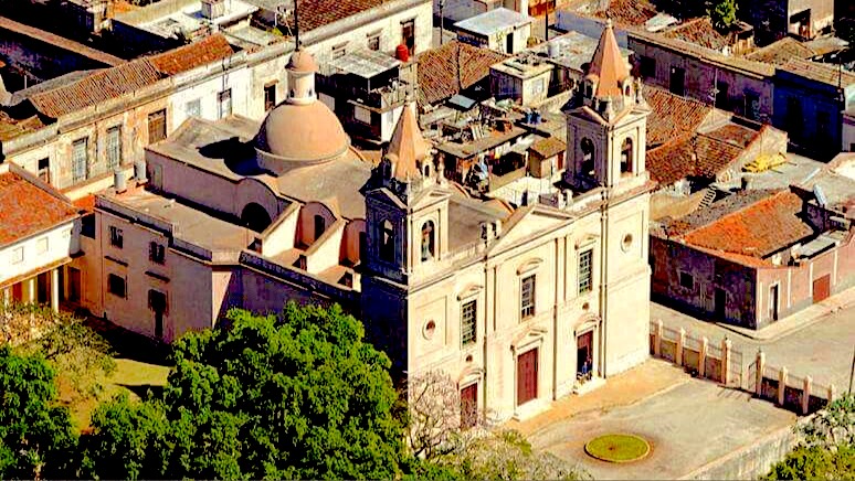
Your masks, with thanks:
[[[684,240],[707,249],[763,258],[814,234],[800,217],[801,212],[802,200],[782,191],[687,234]]]

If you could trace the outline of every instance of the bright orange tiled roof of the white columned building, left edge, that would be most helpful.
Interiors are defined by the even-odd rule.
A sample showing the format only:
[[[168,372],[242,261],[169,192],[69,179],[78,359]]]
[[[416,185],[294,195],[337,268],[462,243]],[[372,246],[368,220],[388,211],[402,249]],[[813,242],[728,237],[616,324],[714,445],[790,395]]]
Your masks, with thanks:
[[[25,174],[0,174],[0,245],[21,240],[76,215],[70,202],[48,193]]]

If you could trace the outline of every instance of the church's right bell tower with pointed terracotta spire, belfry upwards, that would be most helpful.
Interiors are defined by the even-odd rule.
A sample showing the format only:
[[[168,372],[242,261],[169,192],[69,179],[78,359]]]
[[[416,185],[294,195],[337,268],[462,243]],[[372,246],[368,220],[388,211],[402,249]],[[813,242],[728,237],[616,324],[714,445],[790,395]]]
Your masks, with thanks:
[[[632,77],[621,54],[611,19],[571,105],[567,143],[572,161],[564,180],[578,190],[645,183],[650,108],[641,82]]]

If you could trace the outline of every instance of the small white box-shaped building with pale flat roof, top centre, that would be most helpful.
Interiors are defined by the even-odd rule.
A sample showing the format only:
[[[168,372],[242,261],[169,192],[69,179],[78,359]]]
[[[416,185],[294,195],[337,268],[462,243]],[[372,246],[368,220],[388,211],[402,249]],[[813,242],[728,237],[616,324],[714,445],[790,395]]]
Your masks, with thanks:
[[[506,8],[481,13],[454,24],[457,40],[514,55],[528,47],[535,19]]]

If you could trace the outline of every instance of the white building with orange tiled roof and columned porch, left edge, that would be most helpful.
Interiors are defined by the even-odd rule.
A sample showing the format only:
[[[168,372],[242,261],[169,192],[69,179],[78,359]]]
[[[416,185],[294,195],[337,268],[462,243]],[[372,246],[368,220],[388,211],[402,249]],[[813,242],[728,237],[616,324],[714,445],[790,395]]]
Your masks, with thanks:
[[[80,296],[77,209],[46,183],[0,163],[0,293],[3,302],[48,304]],[[95,272],[93,272],[95,274]],[[2,339],[7,339],[3,325]]]

